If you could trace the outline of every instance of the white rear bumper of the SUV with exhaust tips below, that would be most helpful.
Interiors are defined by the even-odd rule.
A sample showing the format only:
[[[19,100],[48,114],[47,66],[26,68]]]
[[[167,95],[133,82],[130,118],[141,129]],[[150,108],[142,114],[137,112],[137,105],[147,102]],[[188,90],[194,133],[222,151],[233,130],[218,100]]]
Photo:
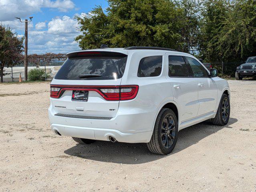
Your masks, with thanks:
[[[150,141],[154,118],[151,113],[135,111],[122,112],[111,119],[83,119],[65,116],[56,116],[50,105],[48,116],[51,130],[61,135],[109,141],[113,136],[118,142],[147,143]]]

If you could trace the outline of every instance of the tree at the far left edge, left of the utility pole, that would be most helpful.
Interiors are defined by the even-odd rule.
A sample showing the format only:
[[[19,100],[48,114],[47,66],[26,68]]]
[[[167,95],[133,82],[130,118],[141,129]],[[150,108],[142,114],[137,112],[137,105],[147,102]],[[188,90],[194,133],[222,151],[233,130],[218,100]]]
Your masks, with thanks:
[[[23,38],[18,38],[9,27],[0,25],[0,76],[3,82],[4,67],[21,62]]]

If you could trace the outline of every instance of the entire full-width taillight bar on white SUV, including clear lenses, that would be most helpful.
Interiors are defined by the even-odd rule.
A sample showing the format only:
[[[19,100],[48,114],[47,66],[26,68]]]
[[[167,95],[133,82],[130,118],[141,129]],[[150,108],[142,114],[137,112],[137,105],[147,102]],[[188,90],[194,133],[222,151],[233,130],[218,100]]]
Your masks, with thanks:
[[[69,86],[69,85],[51,85],[50,97],[60,98],[65,90],[81,90],[81,91],[96,91],[105,100],[119,101],[131,100],[137,96],[138,85],[121,85],[121,86]]]

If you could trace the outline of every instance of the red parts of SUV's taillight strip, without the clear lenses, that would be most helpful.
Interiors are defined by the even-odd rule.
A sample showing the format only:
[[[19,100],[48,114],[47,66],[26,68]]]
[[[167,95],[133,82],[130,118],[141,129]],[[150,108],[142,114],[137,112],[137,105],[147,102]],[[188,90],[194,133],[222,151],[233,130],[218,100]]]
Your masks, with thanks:
[[[79,90],[79,91],[96,91],[98,92],[105,100],[131,100],[137,96],[139,86],[138,85],[122,85],[122,86],[81,86],[81,85],[50,85],[50,87],[58,87],[59,91],[50,91],[50,97],[60,98],[65,90]],[[119,93],[103,93],[101,88],[112,88],[120,89],[121,88],[132,88],[131,92],[119,92]]]

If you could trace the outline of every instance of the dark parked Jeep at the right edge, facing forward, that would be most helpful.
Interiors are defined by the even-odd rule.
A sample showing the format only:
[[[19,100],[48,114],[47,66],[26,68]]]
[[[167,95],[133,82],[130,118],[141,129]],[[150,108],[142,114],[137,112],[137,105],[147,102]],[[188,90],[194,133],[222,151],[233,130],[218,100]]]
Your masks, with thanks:
[[[246,63],[236,68],[236,80],[242,80],[245,76],[256,76],[256,56],[248,57]]]

